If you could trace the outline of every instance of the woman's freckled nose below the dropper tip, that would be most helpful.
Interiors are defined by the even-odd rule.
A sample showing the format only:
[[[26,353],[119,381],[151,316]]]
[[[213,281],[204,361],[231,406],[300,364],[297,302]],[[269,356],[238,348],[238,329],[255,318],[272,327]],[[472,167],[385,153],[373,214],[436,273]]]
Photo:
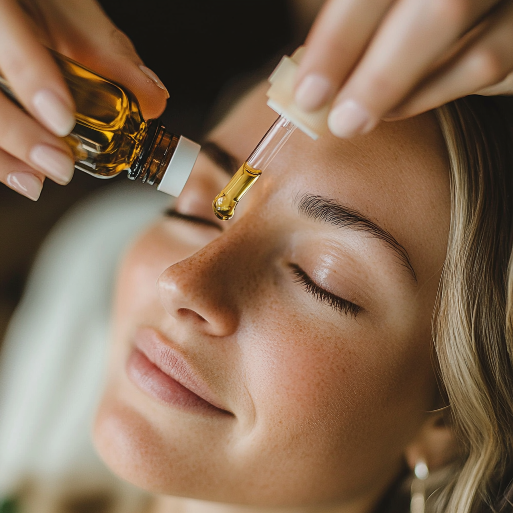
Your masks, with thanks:
[[[180,323],[211,336],[233,334],[239,311],[230,260],[226,246],[216,240],[168,267],[157,281],[166,311]]]

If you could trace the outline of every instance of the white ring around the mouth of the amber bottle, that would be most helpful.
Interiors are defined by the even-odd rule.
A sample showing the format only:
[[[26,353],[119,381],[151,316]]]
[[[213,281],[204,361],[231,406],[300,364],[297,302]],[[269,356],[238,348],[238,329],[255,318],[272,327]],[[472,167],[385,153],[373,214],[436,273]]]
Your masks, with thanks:
[[[198,143],[181,135],[157,190],[177,198],[191,174],[200,150]]]

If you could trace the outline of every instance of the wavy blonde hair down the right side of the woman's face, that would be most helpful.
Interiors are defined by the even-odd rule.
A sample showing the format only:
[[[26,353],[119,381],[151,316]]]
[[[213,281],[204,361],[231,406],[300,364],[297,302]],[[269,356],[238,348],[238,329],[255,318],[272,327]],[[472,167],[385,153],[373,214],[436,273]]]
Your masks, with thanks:
[[[465,455],[438,510],[513,510],[513,100],[468,96],[436,114],[451,220],[433,340]]]

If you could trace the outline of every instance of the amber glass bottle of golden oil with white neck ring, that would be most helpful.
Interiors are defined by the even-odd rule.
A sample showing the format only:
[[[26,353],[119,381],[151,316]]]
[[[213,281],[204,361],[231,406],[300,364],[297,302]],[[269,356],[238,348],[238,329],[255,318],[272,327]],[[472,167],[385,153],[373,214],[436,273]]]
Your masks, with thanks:
[[[76,105],[76,125],[64,138],[73,151],[75,168],[97,178],[112,178],[126,169],[131,180],[139,179],[178,196],[200,145],[169,132],[161,120],[145,121],[139,103],[127,89],[52,53]],[[1,76],[0,89],[16,102]]]

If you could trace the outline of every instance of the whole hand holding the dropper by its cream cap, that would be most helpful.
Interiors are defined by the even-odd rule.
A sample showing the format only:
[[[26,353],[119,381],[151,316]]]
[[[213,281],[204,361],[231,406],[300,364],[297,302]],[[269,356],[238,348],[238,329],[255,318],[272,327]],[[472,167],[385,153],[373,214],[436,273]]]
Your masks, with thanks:
[[[295,101],[339,137],[467,94],[513,94],[512,0],[328,0]]]

